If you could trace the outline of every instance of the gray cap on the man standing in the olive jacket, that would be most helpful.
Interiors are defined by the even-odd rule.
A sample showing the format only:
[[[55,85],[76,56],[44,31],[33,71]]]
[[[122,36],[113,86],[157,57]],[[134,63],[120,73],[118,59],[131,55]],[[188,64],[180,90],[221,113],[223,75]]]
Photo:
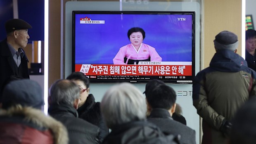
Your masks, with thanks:
[[[230,31],[222,31],[215,36],[213,40],[217,50],[232,50],[235,51],[238,47],[237,35]]]

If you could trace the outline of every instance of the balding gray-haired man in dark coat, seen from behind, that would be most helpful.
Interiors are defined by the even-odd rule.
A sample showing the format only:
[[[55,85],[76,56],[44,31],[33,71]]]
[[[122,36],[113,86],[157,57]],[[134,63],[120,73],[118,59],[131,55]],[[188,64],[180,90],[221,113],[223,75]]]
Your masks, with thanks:
[[[48,113],[62,122],[69,134],[69,144],[98,144],[100,128],[78,118],[80,89],[71,80],[57,80],[49,90]]]

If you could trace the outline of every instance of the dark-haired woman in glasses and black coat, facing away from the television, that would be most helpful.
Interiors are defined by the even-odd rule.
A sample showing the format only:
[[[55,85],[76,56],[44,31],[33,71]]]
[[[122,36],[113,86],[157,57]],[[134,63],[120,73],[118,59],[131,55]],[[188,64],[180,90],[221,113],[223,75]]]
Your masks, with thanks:
[[[100,111],[100,102],[95,102],[95,98],[90,92],[90,81],[82,72],[73,72],[66,79],[72,80],[80,88],[78,103],[78,117],[93,125],[100,127],[100,140],[109,134],[109,128],[105,124]]]

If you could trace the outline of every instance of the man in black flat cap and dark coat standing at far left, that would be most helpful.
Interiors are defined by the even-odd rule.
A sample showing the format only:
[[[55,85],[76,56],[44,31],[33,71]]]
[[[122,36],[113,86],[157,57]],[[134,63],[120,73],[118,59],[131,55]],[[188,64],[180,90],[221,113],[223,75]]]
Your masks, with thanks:
[[[0,42],[0,103],[2,90],[11,80],[29,78],[28,58],[24,52],[29,39],[30,24],[22,19],[5,23],[7,38]]]

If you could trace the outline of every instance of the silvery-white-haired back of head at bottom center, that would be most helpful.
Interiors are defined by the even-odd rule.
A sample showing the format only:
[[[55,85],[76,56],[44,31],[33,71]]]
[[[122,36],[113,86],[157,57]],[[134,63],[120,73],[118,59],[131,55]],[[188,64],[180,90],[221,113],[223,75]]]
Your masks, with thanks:
[[[146,118],[145,99],[140,90],[130,83],[110,87],[104,94],[100,106],[109,128]]]

